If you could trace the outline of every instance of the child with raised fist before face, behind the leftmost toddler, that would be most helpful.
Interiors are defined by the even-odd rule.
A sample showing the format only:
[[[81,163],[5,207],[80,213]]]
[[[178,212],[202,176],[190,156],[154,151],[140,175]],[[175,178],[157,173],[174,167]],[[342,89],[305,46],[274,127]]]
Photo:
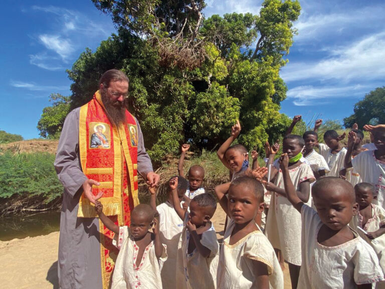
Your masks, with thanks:
[[[182,264],[177,263],[177,252],[180,235],[182,234],[183,222],[176,214],[174,207],[181,207],[181,201],[183,200],[184,193],[187,189],[188,182],[182,177],[177,178],[178,185],[176,188],[178,200],[174,203],[172,199],[172,189],[168,185],[167,187],[167,200],[156,206],[156,190],[155,188],[149,188],[151,193],[151,207],[159,212],[159,236],[160,241],[167,246],[167,260],[163,263],[160,274],[162,277],[162,283],[168,289],[176,289],[175,272]]]

